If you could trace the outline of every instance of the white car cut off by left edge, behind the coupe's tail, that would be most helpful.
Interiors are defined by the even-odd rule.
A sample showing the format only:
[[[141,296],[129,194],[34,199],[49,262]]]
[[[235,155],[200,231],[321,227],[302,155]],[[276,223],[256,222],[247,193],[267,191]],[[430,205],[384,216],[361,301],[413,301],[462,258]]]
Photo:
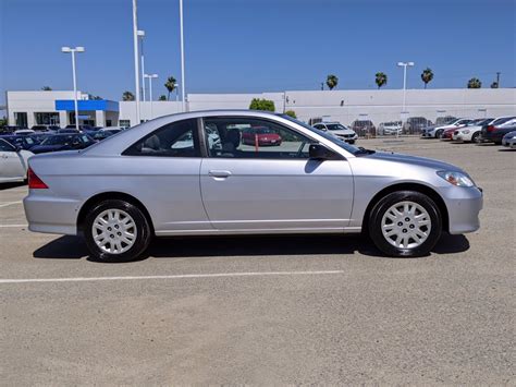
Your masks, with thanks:
[[[25,181],[30,156],[33,153],[16,148],[0,138],[0,183]]]

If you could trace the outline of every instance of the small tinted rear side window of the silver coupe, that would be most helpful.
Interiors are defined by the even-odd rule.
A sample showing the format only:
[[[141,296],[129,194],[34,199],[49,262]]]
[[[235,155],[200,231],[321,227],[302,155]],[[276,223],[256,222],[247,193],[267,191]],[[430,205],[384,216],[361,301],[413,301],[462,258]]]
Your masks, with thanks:
[[[123,155],[200,157],[197,121],[189,119],[169,123],[133,144]]]

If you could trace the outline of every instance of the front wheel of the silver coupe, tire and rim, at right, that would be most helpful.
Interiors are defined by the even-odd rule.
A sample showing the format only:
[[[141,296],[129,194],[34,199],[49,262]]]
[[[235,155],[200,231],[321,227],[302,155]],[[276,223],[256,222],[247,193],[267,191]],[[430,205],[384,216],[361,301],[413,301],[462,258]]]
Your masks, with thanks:
[[[418,217],[417,219],[404,213],[407,208],[406,204],[408,204],[408,209],[413,209],[411,214]],[[393,217],[395,213],[392,208],[402,209],[400,218]],[[427,221],[428,223],[423,225]],[[383,230],[393,234],[384,235]],[[388,194],[374,205],[369,216],[369,235],[376,246],[388,256],[428,255],[441,237],[441,231],[442,217],[439,207],[430,197],[420,192],[398,191]]]

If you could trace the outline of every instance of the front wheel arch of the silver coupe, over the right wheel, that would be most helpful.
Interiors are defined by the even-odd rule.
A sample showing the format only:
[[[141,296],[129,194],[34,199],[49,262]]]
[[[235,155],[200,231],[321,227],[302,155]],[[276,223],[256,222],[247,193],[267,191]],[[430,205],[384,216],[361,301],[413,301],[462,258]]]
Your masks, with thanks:
[[[413,182],[389,185],[384,188],[383,190],[379,191],[369,202],[369,204],[367,205],[366,211],[364,213],[364,219],[363,219],[363,226],[361,226],[363,231],[367,231],[369,229],[369,216],[374,205],[385,195],[389,195],[397,191],[416,191],[429,196],[435,203],[435,205],[438,206],[441,213],[443,231],[446,231],[446,232],[450,231],[450,218],[449,218],[447,207],[446,207],[446,204],[444,203],[444,199],[441,197],[441,195],[435,190],[431,189],[428,185],[425,185],[421,183],[413,183]]]

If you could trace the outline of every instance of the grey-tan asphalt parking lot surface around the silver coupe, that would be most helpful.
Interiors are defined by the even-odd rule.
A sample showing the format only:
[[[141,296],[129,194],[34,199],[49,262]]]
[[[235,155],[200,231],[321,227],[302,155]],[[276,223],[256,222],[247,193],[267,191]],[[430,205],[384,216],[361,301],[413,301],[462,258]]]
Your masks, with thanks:
[[[358,145],[464,168],[481,229],[415,259],[314,235],[163,239],[100,264],[26,230],[26,186],[0,190],[2,384],[514,384],[516,152]]]

